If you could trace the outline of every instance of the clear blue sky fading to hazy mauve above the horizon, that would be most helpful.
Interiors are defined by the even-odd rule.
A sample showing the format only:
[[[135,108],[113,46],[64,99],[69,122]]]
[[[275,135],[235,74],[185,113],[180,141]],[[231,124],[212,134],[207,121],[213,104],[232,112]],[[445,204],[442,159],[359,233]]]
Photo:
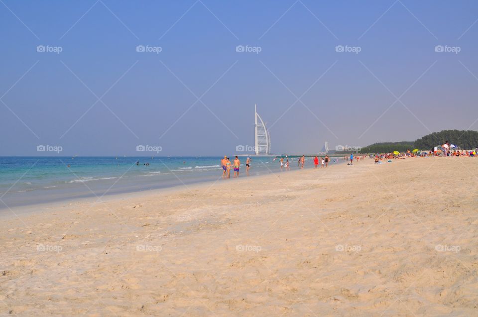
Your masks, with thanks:
[[[478,130],[477,21],[473,0],[1,0],[0,156],[233,155],[255,104],[276,154]]]

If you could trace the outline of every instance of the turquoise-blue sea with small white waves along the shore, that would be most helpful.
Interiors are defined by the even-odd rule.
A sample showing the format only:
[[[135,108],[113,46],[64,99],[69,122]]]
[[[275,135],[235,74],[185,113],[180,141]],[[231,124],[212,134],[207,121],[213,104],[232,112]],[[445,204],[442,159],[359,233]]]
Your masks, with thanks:
[[[239,156],[239,159],[240,177],[281,172],[278,157],[251,156],[247,176],[246,156]],[[298,169],[298,156],[289,156],[289,161],[291,170]],[[331,164],[338,161],[339,158],[331,158]],[[220,164],[221,157],[218,156],[0,157],[0,211],[27,205],[215,182],[222,176]],[[312,167],[313,160],[308,156],[305,168]]]

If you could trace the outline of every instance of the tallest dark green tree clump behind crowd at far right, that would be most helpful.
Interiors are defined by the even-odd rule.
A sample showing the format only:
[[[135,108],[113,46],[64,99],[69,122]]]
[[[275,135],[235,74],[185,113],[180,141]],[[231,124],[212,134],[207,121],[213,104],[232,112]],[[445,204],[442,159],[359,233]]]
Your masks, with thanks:
[[[415,148],[420,150],[430,150],[434,146],[442,145],[448,141],[464,150],[471,150],[478,146],[478,132],[466,130],[443,130],[425,135],[415,141]]]

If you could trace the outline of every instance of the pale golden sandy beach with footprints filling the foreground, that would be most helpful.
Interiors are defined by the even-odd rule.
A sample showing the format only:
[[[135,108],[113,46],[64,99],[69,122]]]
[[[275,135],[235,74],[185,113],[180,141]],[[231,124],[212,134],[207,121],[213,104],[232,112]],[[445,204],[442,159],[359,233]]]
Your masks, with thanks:
[[[477,316],[477,163],[367,159],[5,217],[0,315]]]

